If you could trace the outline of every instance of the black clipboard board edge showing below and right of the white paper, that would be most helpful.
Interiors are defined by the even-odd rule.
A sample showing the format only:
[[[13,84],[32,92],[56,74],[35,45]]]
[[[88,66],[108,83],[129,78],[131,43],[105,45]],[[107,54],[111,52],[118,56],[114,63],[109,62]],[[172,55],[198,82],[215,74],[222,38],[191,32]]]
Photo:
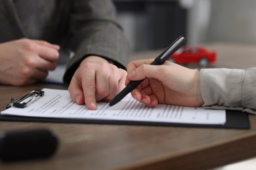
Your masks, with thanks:
[[[91,120],[91,119],[70,119],[70,118],[38,118],[28,116],[4,116],[0,115],[2,121],[15,122],[51,122],[51,123],[79,123],[79,124],[122,124],[122,125],[143,125],[143,126],[179,126],[179,127],[216,127],[227,129],[249,129],[249,116],[246,112],[238,110],[226,110],[226,124],[177,124],[165,122],[140,122],[125,120]]]

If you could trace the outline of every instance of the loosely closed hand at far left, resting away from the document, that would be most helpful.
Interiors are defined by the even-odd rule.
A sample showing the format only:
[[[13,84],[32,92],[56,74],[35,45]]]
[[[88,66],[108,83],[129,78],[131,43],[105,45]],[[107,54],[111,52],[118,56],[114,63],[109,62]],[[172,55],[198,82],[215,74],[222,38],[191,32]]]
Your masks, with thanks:
[[[0,83],[14,86],[33,84],[55,69],[58,45],[19,39],[0,44]]]

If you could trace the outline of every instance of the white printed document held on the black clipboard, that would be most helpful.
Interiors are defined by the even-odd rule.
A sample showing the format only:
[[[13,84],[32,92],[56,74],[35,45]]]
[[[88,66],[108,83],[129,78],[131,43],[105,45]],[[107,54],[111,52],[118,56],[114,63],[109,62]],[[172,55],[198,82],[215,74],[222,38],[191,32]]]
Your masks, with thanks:
[[[135,101],[131,94],[116,105],[98,102],[97,110],[89,110],[85,105],[77,105],[70,98],[68,90],[43,89],[45,95],[35,97],[24,109],[11,107],[2,115],[32,116],[46,118],[72,118],[87,120],[114,120],[135,122],[159,122],[180,124],[224,124],[225,110],[203,109],[201,107],[181,107],[158,105],[148,108]]]

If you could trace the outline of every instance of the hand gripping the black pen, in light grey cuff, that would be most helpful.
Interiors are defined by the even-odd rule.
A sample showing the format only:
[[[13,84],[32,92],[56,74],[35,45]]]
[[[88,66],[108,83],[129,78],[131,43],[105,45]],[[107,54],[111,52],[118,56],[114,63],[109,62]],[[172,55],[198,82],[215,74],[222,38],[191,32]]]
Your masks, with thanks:
[[[203,105],[199,84],[199,71],[165,61],[163,65],[150,65],[154,59],[133,61],[127,65],[128,84],[131,80],[146,78],[131,94],[148,107],[158,103],[200,107]]]

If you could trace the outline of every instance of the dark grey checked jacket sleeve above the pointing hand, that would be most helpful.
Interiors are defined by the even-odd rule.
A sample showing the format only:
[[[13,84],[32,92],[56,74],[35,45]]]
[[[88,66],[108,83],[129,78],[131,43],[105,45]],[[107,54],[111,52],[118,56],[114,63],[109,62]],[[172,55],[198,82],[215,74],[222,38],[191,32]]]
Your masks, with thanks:
[[[108,59],[125,69],[129,43],[116,22],[116,9],[110,0],[75,0],[71,3],[68,44],[75,55],[70,59],[64,83],[69,84],[77,67],[87,56]]]

